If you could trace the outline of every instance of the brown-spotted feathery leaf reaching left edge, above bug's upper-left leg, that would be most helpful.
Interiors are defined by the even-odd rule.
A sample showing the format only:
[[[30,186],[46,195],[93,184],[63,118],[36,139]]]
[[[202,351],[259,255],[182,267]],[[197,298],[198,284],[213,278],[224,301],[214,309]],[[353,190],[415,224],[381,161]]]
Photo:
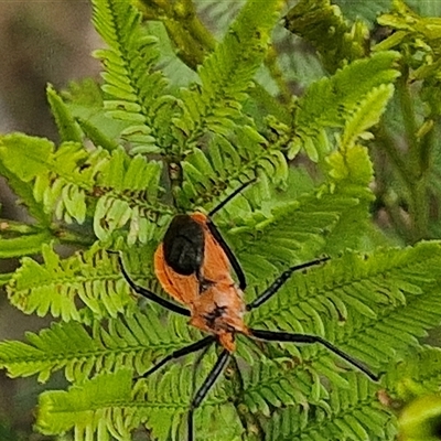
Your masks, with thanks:
[[[158,201],[160,162],[131,158],[122,149],[88,152],[74,142],[56,149],[49,140],[24,135],[3,137],[1,159],[17,179],[32,184],[33,197],[46,213],[55,207],[58,219],[79,224],[94,216],[101,240],[111,240],[114,232],[128,224],[129,244],[146,243],[170,219],[171,208]]]

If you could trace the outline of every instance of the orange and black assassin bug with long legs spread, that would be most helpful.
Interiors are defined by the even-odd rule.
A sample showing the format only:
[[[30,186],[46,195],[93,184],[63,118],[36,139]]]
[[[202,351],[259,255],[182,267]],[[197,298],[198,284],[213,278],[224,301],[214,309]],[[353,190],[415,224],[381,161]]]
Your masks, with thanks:
[[[247,286],[244,271],[211,217],[250,182],[240,185],[208,215],[200,212],[190,215],[176,215],[154,254],[154,271],[162,288],[189,309],[136,284],[126,271],[119,255],[122,275],[133,291],[170,311],[189,316],[191,325],[209,333],[208,336],[198,342],[169,354],[153,365],[142,377],[153,374],[172,359],[207,348],[213,343],[223,347],[215,365],[191,401],[187,413],[189,441],[194,440],[193,413],[227,366],[236,348],[236,334],[244,334],[250,338],[266,342],[318,343],[357,367],[370,379],[378,380],[378,377],[361,362],[321,336],[255,330],[245,324],[245,312],[251,311],[271,299],[294,271],[329,260],[327,257],[324,257],[288,268],[260,295],[246,304],[243,292]],[[229,266],[236,272],[238,284],[232,278]]]

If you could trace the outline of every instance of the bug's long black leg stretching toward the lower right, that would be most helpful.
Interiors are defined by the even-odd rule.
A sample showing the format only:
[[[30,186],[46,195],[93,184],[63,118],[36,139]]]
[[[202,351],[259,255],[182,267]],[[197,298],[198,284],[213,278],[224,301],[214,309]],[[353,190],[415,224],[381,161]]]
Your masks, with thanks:
[[[342,357],[348,364],[357,367],[364,374],[366,374],[372,380],[378,381],[378,376],[372,373],[367,367],[365,367],[361,362],[346,354],[338,347],[334,346],[332,343],[318,336],[318,335],[309,335],[309,334],[291,334],[288,332],[279,332],[279,331],[263,331],[263,330],[249,330],[251,335],[256,338],[263,340],[266,342],[291,342],[291,343],[319,343],[333,352],[334,354]]]

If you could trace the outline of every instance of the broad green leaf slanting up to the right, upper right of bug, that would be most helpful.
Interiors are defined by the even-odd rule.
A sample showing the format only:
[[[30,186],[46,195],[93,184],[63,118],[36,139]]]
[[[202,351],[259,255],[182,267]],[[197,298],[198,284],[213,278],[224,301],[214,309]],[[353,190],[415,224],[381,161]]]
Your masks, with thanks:
[[[297,130],[288,154],[294,157],[303,148],[312,160],[323,158],[329,151],[325,129],[344,127],[354,112],[358,112],[358,118],[364,115],[365,123],[359,129],[365,131],[369,128],[384,111],[390,89],[381,88],[377,92],[381,94],[381,99],[375,109],[375,116],[368,94],[373,94],[377,87],[392,83],[399,75],[394,68],[397,58],[397,53],[381,52],[370,58],[355,61],[331,78],[313,83],[297,103]],[[358,131],[357,136],[359,135],[362,132]]]

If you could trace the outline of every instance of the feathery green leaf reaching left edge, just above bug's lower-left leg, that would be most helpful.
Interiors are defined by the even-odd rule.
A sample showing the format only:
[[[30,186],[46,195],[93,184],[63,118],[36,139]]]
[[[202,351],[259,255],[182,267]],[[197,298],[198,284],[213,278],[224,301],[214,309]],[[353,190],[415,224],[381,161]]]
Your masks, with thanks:
[[[75,321],[55,323],[26,338],[28,343],[0,343],[0,365],[13,377],[37,374],[40,381],[60,369],[71,381],[127,366],[142,374],[157,357],[192,342],[182,318],[172,318],[164,326],[158,308],[150,305],[123,319],[94,320],[92,327]]]

